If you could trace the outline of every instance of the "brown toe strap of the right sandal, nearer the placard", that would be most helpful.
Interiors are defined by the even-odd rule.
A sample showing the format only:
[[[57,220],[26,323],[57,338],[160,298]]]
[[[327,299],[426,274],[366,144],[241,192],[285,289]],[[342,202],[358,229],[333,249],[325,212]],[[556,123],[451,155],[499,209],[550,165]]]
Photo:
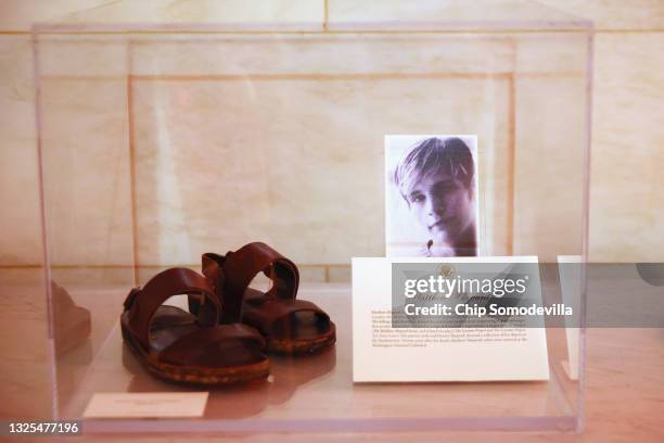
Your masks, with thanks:
[[[258,328],[261,333],[270,336],[274,324],[291,317],[295,313],[310,312],[323,321],[330,321],[330,316],[316,304],[306,300],[267,300],[258,306],[246,309],[242,320]]]

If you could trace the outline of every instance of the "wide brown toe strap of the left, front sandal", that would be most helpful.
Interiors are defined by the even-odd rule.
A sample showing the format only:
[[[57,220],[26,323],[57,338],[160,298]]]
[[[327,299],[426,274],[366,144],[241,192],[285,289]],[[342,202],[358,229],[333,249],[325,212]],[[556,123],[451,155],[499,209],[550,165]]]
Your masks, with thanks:
[[[230,340],[253,344],[258,349],[264,349],[266,344],[263,336],[250,326],[219,325],[180,337],[165,350],[153,354],[152,358],[170,364],[191,365],[204,360],[206,356],[217,356],[218,345]]]

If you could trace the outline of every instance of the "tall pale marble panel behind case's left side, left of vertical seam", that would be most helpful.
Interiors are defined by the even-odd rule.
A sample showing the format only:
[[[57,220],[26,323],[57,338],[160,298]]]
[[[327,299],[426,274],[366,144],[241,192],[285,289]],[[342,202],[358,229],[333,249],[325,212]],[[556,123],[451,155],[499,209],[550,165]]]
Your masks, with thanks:
[[[49,254],[53,265],[130,265],[125,80],[41,79]]]

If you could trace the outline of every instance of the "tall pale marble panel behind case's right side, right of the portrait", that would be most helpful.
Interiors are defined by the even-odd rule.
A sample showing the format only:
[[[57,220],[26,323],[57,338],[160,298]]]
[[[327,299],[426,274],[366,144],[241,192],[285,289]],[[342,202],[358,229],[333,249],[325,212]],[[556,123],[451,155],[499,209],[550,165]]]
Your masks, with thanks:
[[[525,77],[515,90],[514,254],[554,263],[583,253],[586,81]]]

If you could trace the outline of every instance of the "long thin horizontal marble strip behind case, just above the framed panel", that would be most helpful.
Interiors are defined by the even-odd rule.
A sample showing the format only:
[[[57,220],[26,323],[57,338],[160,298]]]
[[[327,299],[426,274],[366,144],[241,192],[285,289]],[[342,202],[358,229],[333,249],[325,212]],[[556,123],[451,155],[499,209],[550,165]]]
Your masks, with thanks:
[[[483,75],[510,72],[515,60],[511,36],[196,35],[132,40],[137,75]]]

